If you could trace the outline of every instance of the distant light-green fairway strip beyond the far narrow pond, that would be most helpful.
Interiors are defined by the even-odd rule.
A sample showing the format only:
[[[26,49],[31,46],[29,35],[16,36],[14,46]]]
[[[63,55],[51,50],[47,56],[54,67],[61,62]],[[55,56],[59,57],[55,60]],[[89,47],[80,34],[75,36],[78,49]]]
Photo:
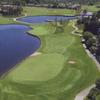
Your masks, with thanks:
[[[73,15],[75,10],[69,9],[48,9],[41,7],[25,7],[23,13],[27,13],[28,16],[32,15]]]

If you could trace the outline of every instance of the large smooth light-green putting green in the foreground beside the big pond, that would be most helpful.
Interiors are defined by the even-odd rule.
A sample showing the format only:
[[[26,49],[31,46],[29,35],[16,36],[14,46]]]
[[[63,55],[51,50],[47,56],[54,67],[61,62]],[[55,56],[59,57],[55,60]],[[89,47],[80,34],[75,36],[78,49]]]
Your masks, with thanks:
[[[29,57],[16,66],[8,78],[13,81],[47,81],[54,78],[63,68],[65,58],[61,54],[41,54]]]

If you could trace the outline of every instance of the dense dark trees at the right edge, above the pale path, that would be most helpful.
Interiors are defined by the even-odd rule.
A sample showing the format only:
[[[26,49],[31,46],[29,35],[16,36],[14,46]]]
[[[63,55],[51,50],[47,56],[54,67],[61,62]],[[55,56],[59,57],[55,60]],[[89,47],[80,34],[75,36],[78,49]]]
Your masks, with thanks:
[[[77,21],[77,24],[83,24],[84,43],[100,62],[100,11],[95,12],[92,16],[83,16]]]

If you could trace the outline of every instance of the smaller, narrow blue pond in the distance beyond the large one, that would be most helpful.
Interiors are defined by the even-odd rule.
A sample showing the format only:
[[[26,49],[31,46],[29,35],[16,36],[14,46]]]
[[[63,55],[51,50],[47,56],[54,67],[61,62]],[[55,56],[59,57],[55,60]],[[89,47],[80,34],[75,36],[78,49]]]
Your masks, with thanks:
[[[69,20],[69,19],[75,19],[75,16],[29,16],[29,17],[23,17],[18,18],[17,21],[26,22],[26,23],[44,23],[47,20],[54,21],[57,18],[57,20]]]

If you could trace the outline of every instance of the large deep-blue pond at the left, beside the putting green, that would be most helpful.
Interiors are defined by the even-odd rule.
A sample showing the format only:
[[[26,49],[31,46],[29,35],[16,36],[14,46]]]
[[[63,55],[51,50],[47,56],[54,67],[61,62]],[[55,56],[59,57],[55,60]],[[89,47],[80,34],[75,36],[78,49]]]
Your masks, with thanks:
[[[24,25],[0,25],[0,75],[40,47],[40,40],[28,30]]]

